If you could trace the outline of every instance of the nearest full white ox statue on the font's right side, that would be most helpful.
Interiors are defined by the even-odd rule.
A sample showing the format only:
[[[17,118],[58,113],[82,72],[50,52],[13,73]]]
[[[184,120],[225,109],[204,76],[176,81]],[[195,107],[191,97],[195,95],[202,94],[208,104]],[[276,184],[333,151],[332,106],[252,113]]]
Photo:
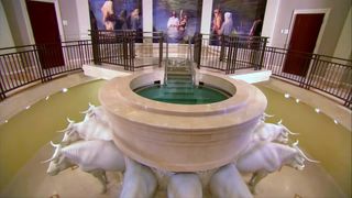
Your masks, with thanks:
[[[237,160],[235,166],[240,173],[253,173],[249,183],[253,194],[261,179],[285,165],[301,170],[305,167],[305,160],[319,163],[308,158],[297,145],[298,141],[293,144],[293,147],[273,142],[253,141],[251,143],[250,148]]]

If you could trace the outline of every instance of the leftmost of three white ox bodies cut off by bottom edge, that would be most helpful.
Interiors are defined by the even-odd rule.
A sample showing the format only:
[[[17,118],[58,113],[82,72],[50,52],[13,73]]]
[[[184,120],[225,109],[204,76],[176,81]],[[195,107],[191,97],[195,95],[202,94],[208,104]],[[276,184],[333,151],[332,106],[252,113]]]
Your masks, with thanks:
[[[128,157],[125,166],[120,198],[152,198],[157,188],[152,169]]]

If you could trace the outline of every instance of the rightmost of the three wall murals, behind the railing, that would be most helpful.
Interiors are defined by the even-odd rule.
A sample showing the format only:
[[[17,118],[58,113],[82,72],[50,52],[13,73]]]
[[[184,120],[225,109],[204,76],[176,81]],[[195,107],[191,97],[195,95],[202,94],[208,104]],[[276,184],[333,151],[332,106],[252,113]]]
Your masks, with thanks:
[[[266,0],[213,0],[210,32],[260,36]]]

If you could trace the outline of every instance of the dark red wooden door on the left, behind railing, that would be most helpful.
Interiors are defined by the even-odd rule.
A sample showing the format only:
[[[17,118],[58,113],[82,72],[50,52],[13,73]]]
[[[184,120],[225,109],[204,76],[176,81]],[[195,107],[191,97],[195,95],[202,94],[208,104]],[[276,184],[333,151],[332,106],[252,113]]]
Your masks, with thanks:
[[[63,66],[65,63],[54,3],[26,0],[26,8],[42,68]]]

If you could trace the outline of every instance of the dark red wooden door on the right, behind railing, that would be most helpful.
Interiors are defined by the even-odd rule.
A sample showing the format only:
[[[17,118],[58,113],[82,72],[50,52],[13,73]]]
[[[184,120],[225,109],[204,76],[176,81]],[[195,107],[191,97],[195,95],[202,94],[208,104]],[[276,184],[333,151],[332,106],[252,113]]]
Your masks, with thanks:
[[[323,20],[323,13],[297,14],[284,73],[306,76]]]

